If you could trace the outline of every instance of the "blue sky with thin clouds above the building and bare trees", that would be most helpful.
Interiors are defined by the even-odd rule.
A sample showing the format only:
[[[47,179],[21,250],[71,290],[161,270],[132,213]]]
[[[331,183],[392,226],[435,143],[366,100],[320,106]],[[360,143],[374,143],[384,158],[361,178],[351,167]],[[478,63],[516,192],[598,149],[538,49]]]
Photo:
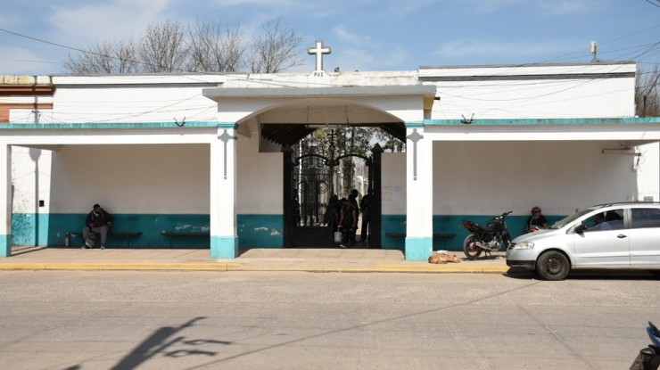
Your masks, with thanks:
[[[72,48],[137,38],[149,23],[218,21],[247,37],[268,19],[323,39],[324,69],[635,61],[660,63],[660,0],[3,0],[0,75],[62,74]],[[38,40],[41,41],[38,41]],[[58,45],[52,45],[52,44]]]

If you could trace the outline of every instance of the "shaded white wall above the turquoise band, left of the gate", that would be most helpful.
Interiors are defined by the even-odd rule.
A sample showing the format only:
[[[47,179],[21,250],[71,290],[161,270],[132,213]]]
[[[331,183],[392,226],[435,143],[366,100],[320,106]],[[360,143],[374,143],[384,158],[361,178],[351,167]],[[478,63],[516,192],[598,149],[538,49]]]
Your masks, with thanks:
[[[282,214],[282,153],[260,153],[258,142],[258,136],[239,136],[236,211]],[[38,199],[45,201],[40,213],[86,212],[95,202],[113,213],[209,213],[209,155],[203,144],[68,145],[57,152],[14,147],[13,211],[36,211],[37,159]]]

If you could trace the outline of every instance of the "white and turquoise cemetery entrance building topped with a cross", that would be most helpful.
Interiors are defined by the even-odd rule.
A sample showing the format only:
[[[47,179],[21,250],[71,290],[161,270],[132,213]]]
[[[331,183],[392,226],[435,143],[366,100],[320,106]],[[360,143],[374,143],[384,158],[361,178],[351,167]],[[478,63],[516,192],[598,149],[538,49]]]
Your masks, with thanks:
[[[536,205],[552,222],[660,200],[660,118],[634,116],[633,62],[330,72],[311,52],[308,73],[4,77],[0,256],[78,247],[95,203],[110,247],[336,247],[321,218],[346,158],[366,169],[369,247],[406,259],[459,250],[464,218],[513,210],[517,235]],[[381,127],[406,150],[304,152],[317,127]]]

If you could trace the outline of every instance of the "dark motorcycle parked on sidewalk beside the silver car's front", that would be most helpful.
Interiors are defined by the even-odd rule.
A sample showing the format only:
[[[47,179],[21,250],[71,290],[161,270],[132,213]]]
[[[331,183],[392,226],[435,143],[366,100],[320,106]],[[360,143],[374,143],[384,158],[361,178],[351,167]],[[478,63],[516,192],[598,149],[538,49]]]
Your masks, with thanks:
[[[491,251],[499,251],[504,246],[506,250],[511,243],[511,235],[507,229],[507,216],[512,212],[502,213],[501,216],[490,218],[485,226],[475,224],[472,221],[463,220],[463,226],[471,234],[467,235],[463,242],[463,251],[468,259],[476,259],[482,252],[491,254]]]

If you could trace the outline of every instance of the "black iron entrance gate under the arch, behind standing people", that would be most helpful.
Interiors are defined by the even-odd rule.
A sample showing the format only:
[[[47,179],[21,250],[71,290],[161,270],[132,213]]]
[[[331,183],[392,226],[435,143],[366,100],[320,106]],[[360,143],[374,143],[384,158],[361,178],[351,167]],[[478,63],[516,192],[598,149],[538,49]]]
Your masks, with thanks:
[[[380,248],[380,146],[376,145],[371,157],[344,154],[328,158],[317,153],[285,150],[285,247],[334,247],[334,225],[326,218],[331,197],[348,195],[352,186],[342,181],[340,164],[347,158],[364,160],[368,169],[362,196],[369,193],[370,237],[369,248]],[[363,177],[364,178],[364,177]],[[351,182],[352,183],[352,182]],[[360,215],[361,223],[362,215]],[[360,244],[365,245],[367,244]]]

